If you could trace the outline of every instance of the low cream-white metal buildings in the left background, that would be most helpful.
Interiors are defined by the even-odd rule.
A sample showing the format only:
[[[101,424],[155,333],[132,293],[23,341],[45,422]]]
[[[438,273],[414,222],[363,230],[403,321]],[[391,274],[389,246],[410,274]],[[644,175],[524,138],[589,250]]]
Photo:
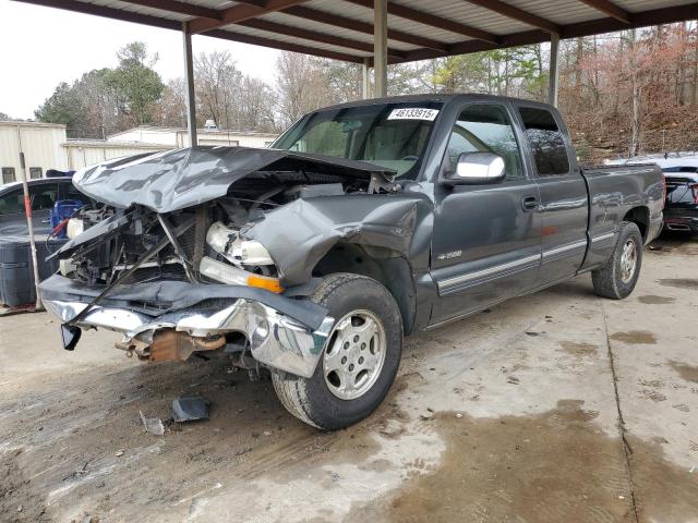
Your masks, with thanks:
[[[276,134],[200,129],[200,145],[268,147]],[[28,178],[46,171],[72,171],[122,156],[186,147],[183,127],[141,125],[107,139],[68,139],[65,125],[38,122],[0,122],[0,185],[21,179],[20,151]]]

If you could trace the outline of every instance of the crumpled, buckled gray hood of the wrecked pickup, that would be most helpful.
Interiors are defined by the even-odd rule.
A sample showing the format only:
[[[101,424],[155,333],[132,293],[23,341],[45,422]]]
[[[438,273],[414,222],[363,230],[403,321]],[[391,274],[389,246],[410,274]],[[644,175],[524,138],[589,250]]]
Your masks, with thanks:
[[[225,196],[255,171],[305,171],[359,180],[395,172],[373,163],[281,149],[198,146],[109,160],[77,171],[73,184],[116,207],[170,212]]]

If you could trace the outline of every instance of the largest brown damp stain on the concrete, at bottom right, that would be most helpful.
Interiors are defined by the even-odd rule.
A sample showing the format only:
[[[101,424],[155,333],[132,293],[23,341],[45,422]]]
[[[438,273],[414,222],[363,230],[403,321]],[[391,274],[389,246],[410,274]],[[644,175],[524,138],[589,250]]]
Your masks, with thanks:
[[[562,401],[534,416],[458,416],[430,421],[447,443],[437,469],[345,521],[634,521],[622,443],[590,422],[593,413],[581,402]],[[698,482],[688,471],[666,462],[657,443],[631,440],[631,447],[640,516],[695,513]]]

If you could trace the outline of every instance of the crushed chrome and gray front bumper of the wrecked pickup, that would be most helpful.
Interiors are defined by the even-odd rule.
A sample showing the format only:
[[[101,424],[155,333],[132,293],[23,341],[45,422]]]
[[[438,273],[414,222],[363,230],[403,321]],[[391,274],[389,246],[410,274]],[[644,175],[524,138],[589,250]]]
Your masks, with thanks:
[[[56,275],[41,283],[40,291],[46,308],[65,324],[100,289]],[[192,337],[239,332],[260,363],[310,378],[334,321],[320,305],[262,289],[157,281],[115,289],[76,326],[113,330],[142,344],[172,329]]]

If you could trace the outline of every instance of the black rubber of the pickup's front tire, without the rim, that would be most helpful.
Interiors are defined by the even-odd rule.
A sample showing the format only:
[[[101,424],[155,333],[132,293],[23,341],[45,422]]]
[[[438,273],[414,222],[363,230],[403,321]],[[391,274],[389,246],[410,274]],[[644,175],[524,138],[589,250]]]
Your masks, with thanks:
[[[369,416],[384,400],[400,365],[402,318],[393,295],[377,281],[364,276],[327,276],[310,296],[339,323],[354,311],[368,311],[381,321],[385,333],[385,357],[373,385],[359,398],[340,399],[325,380],[324,356],[311,378],[272,369],[274,389],[284,406],[302,422],[324,430],[348,427]],[[337,326],[337,324],[335,324]],[[328,340],[332,342],[330,339]]]

